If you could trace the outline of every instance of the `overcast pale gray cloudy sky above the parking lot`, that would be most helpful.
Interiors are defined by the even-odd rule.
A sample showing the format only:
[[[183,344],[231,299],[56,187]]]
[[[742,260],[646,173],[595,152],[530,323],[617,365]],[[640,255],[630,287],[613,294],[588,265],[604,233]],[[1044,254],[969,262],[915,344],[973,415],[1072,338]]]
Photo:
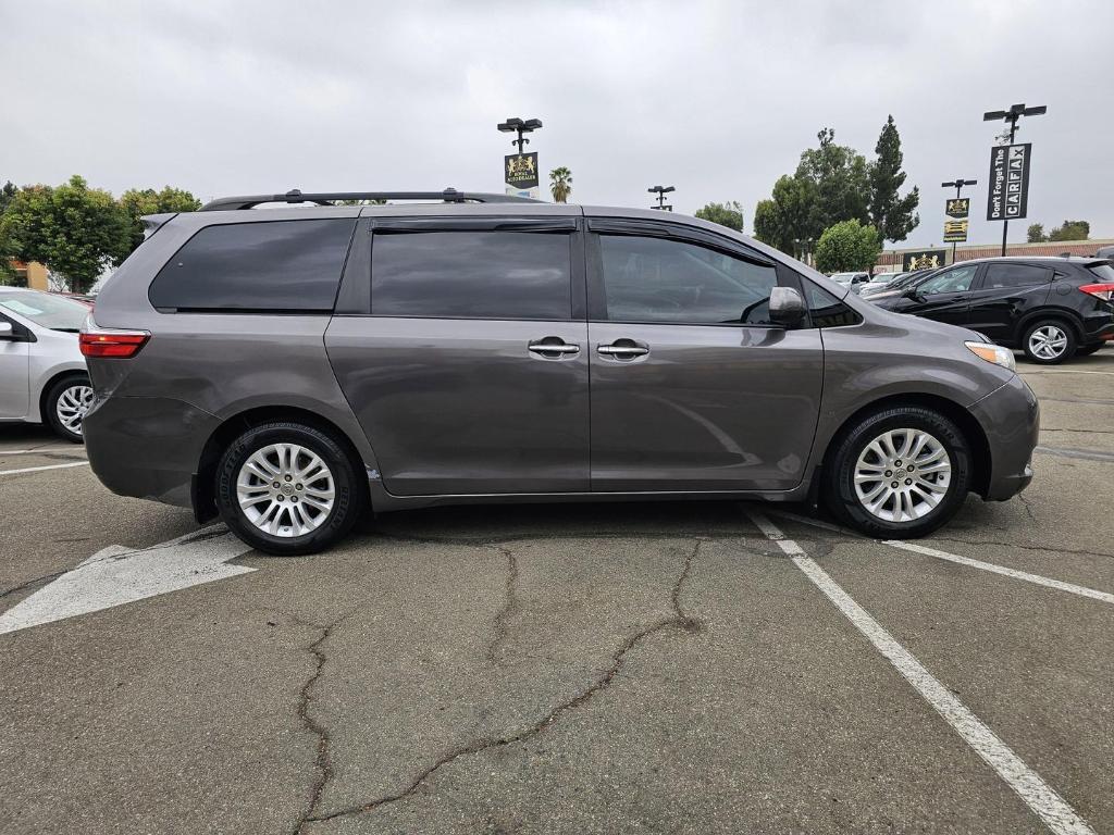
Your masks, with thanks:
[[[824,126],[873,154],[892,114],[910,244],[940,242],[940,183],[978,179],[985,110],[1047,105],[1028,223],[1114,237],[1114,3],[1072,2],[56,2],[0,0],[0,181],[81,174],[119,194],[211,198],[340,189],[501,190],[509,116],[574,173],[573,200],[647,206],[675,185],[692,213],[754,204]]]

